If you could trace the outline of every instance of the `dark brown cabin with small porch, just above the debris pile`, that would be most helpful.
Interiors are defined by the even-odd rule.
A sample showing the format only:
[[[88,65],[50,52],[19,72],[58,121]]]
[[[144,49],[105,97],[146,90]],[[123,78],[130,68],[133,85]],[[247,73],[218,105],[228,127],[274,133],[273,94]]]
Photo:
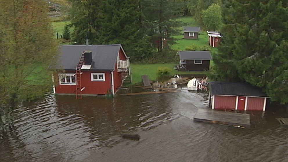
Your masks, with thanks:
[[[179,51],[179,70],[203,71],[209,70],[212,56],[210,51]]]

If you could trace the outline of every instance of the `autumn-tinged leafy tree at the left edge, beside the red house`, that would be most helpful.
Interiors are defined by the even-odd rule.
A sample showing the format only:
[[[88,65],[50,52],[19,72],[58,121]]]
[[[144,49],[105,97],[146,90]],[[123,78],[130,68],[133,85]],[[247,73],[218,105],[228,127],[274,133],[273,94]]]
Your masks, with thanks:
[[[0,1],[0,130],[11,127],[15,103],[48,91],[56,54],[46,3]]]

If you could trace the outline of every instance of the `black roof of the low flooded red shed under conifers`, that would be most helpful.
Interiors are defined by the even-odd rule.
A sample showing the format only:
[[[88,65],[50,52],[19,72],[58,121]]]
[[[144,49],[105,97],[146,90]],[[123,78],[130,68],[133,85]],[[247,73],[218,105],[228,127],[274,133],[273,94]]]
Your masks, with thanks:
[[[259,87],[248,83],[209,82],[211,95],[267,97]]]

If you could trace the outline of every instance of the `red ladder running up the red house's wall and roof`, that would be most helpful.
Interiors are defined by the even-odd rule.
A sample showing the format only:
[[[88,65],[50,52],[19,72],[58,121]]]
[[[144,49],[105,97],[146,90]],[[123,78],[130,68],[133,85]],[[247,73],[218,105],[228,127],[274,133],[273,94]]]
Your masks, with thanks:
[[[81,67],[84,62],[84,52],[82,53],[80,60],[76,66],[76,99],[82,99],[82,91],[85,87],[81,86]]]

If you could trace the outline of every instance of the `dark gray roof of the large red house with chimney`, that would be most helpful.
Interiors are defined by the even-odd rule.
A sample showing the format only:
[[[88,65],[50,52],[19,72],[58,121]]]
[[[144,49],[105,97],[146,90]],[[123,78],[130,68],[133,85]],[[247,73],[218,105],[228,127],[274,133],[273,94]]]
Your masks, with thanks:
[[[56,69],[75,70],[83,51],[92,52],[90,70],[113,71],[121,44],[109,45],[60,45]]]

